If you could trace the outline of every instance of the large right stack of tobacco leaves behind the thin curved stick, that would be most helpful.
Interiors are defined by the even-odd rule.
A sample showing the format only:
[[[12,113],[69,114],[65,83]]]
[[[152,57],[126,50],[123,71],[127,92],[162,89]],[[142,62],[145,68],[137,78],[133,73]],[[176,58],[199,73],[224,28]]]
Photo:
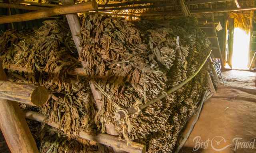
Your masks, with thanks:
[[[178,133],[207,88],[202,79],[207,66],[186,86],[136,117],[114,121],[114,113],[165,94],[198,69],[210,52],[209,41],[195,26],[196,19],[184,20],[193,23],[162,27],[95,14],[84,17],[80,55],[84,70],[91,76],[112,74],[108,79],[94,80],[104,95],[104,108],[96,115],[102,132],[111,122],[120,137],[146,144],[149,153],[173,151]]]

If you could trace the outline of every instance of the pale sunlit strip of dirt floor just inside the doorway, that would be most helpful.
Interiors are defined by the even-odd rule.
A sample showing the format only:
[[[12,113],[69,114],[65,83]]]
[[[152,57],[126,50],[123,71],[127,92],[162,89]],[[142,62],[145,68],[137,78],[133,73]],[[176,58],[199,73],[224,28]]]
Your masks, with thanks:
[[[251,89],[256,89],[255,74],[256,72],[242,70],[230,70],[222,72],[224,84],[226,86],[237,86]]]

